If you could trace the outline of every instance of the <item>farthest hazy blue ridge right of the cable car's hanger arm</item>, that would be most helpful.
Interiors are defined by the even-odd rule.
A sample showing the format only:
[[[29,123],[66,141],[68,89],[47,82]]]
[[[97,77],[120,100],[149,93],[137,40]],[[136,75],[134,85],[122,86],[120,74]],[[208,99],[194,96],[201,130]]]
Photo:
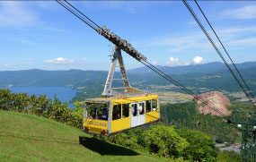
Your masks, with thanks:
[[[235,64],[239,70],[256,68],[256,62],[245,62],[242,64]],[[194,65],[184,65],[184,66],[156,66],[163,72],[169,74],[185,74],[185,73],[211,73],[226,71],[227,68],[225,64],[220,62],[212,62],[207,64],[194,64]],[[149,73],[152,72],[146,66],[139,67],[133,70],[129,70],[131,73]]]

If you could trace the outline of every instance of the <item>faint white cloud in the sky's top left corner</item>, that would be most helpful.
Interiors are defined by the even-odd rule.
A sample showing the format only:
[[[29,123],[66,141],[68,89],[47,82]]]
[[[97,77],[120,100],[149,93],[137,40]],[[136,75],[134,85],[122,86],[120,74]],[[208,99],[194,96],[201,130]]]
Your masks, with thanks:
[[[0,26],[23,27],[38,21],[37,14],[22,5],[19,1],[0,2]]]

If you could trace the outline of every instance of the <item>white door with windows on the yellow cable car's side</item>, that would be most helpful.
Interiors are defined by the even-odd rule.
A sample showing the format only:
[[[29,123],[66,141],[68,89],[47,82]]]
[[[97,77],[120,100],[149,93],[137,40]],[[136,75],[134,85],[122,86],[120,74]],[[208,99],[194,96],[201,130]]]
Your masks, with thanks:
[[[145,124],[145,102],[131,104],[131,127]]]

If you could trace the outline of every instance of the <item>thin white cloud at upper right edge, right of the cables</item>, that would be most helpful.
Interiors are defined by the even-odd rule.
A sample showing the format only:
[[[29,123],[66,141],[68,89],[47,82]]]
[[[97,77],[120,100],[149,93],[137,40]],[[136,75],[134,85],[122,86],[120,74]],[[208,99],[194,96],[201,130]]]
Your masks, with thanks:
[[[227,10],[224,15],[228,18],[249,20],[256,18],[256,5],[247,5],[236,9]]]

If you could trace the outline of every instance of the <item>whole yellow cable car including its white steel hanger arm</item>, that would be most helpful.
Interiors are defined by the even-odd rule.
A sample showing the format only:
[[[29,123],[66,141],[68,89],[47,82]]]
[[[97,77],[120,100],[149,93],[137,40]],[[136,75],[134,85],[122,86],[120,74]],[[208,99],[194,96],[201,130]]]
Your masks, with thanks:
[[[114,89],[111,83],[117,62],[124,87]],[[158,96],[130,87],[119,47],[115,49],[102,98],[87,99],[84,105],[86,132],[110,135],[160,119]]]

